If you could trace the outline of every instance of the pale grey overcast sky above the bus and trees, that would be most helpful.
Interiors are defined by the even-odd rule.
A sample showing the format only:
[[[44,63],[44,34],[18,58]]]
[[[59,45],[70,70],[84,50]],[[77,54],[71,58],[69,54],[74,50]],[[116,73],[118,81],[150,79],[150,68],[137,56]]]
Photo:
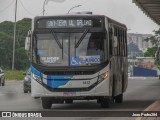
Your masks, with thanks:
[[[63,0],[60,0],[63,1]],[[14,21],[16,0],[0,0],[0,22]],[[43,15],[44,0],[18,0],[17,20]],[[45,5],[45,16],[71,12],[91,11],[93,14],[106,15],[126,24],[129,33],[153,34],[159,26],[147,17],[132,0],[64,0],[50,1]]]

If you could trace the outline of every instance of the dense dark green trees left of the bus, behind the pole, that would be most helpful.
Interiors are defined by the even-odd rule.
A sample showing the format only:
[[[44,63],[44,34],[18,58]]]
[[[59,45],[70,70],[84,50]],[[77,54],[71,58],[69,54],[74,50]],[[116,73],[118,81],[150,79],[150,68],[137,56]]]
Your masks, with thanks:
[[[31,29],[31,19],[24,18],[17,22],[15,69],[25,70],[29,66],[25,47],[25,38]],[[11,69],[13,54],[13,30],[14,23],[5,21],[0,23],[0,66],[3,69]]]

